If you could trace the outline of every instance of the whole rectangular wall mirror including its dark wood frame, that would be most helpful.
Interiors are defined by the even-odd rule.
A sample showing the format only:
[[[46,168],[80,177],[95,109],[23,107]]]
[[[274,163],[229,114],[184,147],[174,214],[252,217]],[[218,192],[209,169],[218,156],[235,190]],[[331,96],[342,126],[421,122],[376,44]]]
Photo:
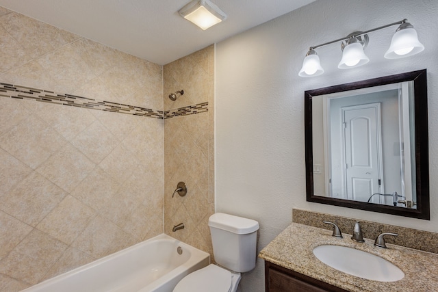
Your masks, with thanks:
[[[430,220],[426,70],[305,91],[307,201]]]

